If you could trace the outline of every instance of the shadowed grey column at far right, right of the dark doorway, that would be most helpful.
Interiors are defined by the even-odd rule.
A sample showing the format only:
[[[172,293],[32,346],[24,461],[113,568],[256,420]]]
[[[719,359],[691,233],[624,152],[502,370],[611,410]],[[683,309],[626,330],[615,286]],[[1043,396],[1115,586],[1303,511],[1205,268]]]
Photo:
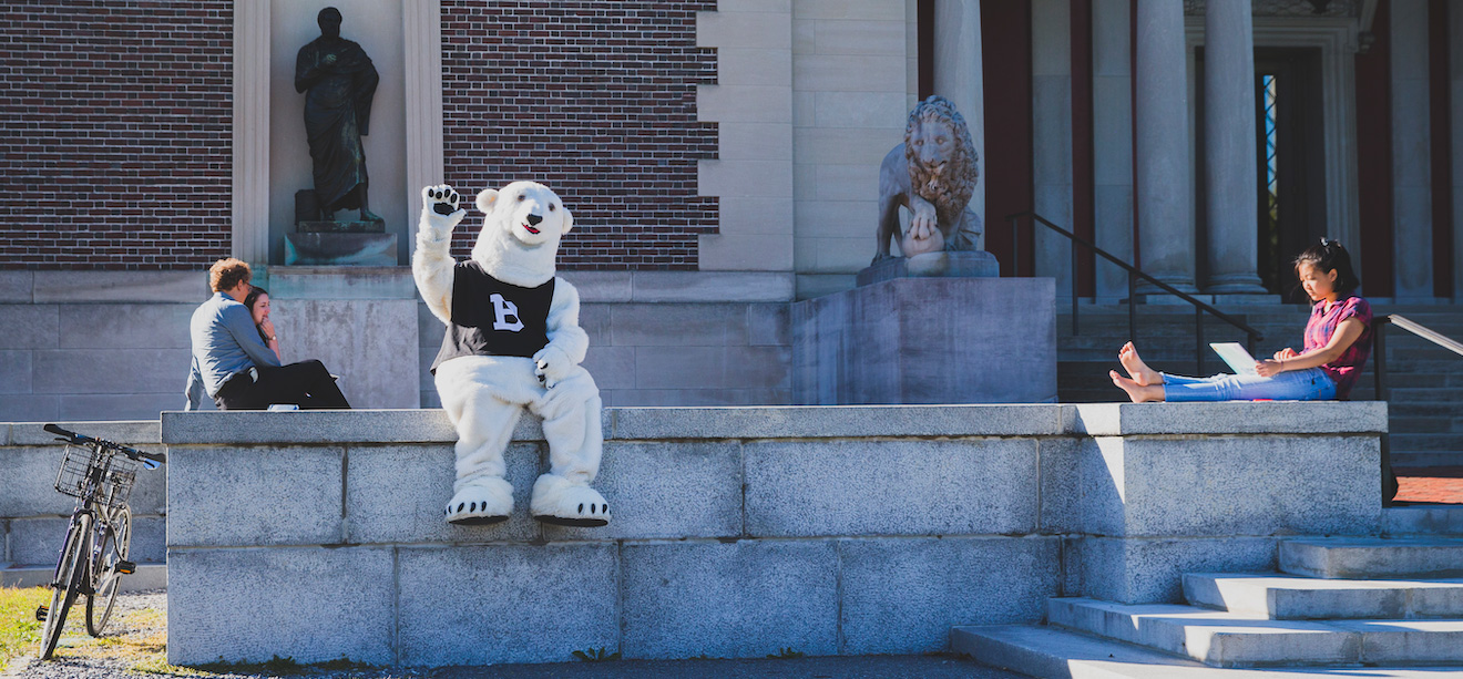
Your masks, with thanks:
[[[1393,271],[1397,301],[1432,299],[1428,1],[1391,3]],[[1362,281],[1365,284],[1365,281]]]

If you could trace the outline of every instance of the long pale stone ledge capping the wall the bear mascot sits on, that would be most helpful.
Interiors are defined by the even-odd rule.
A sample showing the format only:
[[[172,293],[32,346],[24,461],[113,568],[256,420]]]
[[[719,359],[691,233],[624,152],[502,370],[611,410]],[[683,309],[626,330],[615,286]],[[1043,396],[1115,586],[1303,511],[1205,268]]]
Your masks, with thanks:
[[[83,432],[97,423],[78,424]],[[129,427],[149,423],[124,423]],[[63,424],[64,426],[64,424]],[[863,436],[1184,436],[1184,435],[1375,435],[1387,430],[1387,404],[1214,402],[1214,404],[1014,404],[1014,405],[749,405],[704,408],[604,408],[604,438],[664,439],[837,439]],[[117,435],[146,442],[145,427]],[[130,436],[130,439],[129,439]],[[48,443],[40,424],[15,424],[12,445]],[[155,435],[151,438],[158,440]],[[165,411],[161,439],[170,445],[230,443],[452,443],[446,413],[351,410],[291,413]],[[537,417],[525,416],[514,440],[543,440]]]

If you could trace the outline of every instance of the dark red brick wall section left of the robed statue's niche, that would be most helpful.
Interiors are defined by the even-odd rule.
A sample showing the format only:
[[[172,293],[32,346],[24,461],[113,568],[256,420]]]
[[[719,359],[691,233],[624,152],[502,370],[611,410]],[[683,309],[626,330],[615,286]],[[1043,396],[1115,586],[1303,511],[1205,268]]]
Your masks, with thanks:
[[[0,268],[228,255],[233,3],[0,3]]]

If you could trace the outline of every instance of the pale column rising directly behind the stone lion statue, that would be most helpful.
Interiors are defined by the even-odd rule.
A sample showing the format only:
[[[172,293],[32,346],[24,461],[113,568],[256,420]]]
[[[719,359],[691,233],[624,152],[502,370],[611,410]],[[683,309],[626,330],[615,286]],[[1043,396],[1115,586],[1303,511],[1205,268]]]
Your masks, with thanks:
[[[935,0],[935,94],[955,104],[970,127],[970,140],[980,154],[980,181],[970,196],[970,209],[986,217],[986,100],[980,59],[980,0]],[[977,247],[986,247],[985,234]]]

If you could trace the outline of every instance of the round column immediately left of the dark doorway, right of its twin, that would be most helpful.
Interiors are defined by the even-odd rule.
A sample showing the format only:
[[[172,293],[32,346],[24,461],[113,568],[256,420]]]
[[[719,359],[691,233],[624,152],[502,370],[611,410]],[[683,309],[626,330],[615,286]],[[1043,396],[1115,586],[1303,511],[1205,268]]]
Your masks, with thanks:
[[[1255,274],[1255,47],[1249,0],[1204,6],[1206,293],[1264,294]]]

